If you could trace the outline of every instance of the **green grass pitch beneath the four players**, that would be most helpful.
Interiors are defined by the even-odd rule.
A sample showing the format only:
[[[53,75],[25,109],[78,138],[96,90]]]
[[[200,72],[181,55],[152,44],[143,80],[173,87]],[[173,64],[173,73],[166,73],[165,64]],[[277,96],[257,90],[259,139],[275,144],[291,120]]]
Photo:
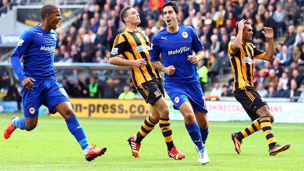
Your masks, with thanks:
[[[19,115],[21,116],[21,115]],[[3,129],[12,114],[0,114]],[[0,171],[303,171],[304,124],[273,124],[278,143],[290,149],[269,156],[260,131],[244,139],[242,153],[234,151],[230,133],[251,122],[210,122],[206,147],[210,163],[201,165],[183,121],[171,121],[174,143],[186,154],[173,160],[158,125],[143,141],[140,158],[133,158],[127,138],[137,133],[143,119],[78,118],[90,143],[106,146],[107,152],[87,162],[63,118],[39,116],[31,132],[16,130],[0,138]]]

